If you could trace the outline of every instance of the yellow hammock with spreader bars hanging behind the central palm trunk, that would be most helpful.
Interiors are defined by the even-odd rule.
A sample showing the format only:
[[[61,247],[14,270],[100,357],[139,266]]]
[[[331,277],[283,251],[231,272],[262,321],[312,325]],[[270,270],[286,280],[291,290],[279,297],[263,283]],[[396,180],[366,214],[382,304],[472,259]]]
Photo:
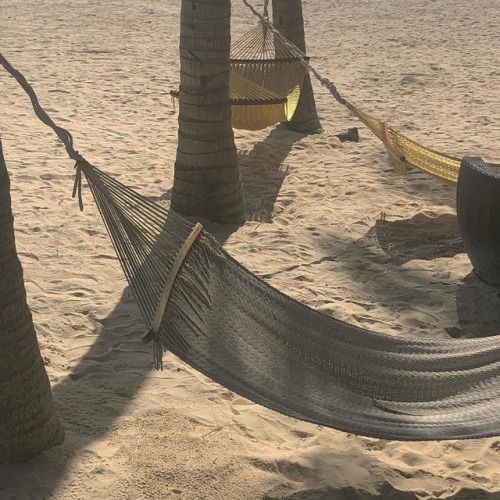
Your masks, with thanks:
[[[262,130],[290,121],[307,73],[280,38],[259,23],[231,49],[229,92],[233,128]],[[170,95],[178,99],[179,91]]]

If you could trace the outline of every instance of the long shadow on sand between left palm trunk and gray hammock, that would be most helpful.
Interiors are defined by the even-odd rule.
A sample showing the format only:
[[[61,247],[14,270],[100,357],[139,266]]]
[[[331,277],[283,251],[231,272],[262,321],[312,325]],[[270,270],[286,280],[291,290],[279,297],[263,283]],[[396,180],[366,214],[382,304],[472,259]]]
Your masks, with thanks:
[[[151,347],[140,340],[144,322],[129,288],[106,318],[93,319],[95,341],[71,373],[52,387],[66,432],[64,443],[25,464],[2,466],[0,497],[2,488],[7,498],[14,488],[16,498],[51,498],[72,463],[91,458],[92,443],[127,412],[147,379]]]

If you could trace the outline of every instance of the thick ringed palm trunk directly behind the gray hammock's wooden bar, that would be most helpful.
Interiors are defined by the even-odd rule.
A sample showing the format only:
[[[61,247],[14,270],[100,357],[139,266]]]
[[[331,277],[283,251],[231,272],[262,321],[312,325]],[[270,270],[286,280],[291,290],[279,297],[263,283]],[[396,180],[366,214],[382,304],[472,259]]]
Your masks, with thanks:
[[[230,30],[230,0],[182,1],[172,208],[224,224],[245,219],[231,126]]]

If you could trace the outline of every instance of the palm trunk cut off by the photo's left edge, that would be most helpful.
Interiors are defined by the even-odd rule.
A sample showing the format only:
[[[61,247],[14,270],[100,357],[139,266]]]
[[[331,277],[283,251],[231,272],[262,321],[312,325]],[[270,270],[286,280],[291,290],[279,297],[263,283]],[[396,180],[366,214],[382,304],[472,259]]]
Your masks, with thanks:
[[[28,460],[63,438],[26,302],[0,142],[0,463]]]

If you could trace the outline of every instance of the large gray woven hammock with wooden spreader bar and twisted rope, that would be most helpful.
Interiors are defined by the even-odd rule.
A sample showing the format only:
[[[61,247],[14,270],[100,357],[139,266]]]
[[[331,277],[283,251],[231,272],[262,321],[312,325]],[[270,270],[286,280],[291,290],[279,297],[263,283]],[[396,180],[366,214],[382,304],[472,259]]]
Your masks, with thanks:
[[[231,258],[199,224],[86,162],[24,77],[76,160],[153,340],[193,368],[280,413],[346,432],[397,440],[500,434],[500,337],[405,339],[314,311]],[[188,244],[187,244],[187,243]]]

